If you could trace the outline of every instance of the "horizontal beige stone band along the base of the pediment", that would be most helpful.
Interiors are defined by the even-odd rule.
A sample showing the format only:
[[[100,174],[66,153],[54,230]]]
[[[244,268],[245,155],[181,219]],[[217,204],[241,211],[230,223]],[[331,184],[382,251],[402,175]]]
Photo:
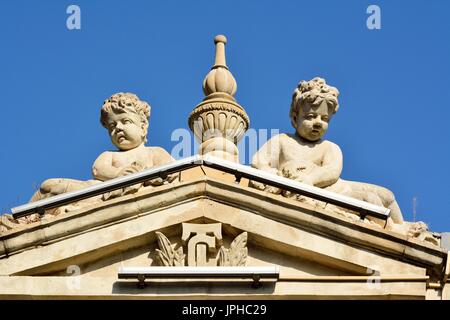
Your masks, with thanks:
[[[138,289],[136,281],[116,278],[0,277],[0,299],[425,299],[425,282],[381,281],[368,288],[363,280],[301,281],[263,283],[253,289],[248,282],[199,283],[192,281],[149,282]]]

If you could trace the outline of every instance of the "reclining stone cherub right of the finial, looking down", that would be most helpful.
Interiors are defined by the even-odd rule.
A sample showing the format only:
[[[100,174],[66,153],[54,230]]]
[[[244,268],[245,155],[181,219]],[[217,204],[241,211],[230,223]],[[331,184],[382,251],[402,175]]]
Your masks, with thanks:
[[[343,165],[341,149],[333,142],[322,139],[339,108],[338,95],[339,91],[327,85],[322,78],[301,81],[294,91],[290,109],[295,134],[280,134],[269,140],[254,155],[252,166],[389,208],[391,215],[388,228],[408,233],[411,223],[403,220],[391,191],[377,185],[340,178]],[[250,185],[305,201],[305,197],[261,183],[251,182]]]

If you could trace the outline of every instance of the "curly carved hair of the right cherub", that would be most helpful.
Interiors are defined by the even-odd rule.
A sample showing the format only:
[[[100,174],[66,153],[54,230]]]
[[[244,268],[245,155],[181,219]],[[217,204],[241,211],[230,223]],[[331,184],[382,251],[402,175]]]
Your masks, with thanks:
[[[325,99],[328,106],[333,108],[334,114],[339,109],[338,96],[338,89],[327,85],[325,79],[316,77],[310,81],[300,81],[292,95],[291,109],[289,111],[289,117],[294,128],[297,126],[294,117],[297,117],[300,107],[304,102],[318,106]]]

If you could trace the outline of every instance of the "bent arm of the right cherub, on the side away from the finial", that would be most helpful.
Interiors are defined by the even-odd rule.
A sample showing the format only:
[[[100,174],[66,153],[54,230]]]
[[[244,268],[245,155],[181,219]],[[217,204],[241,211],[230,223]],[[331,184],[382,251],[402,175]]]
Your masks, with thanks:
[[[321,166],[315,168],[305,177],[305,183],[319,188],[334,184],[342,173],[342,151],[336,144],[327,141]]]

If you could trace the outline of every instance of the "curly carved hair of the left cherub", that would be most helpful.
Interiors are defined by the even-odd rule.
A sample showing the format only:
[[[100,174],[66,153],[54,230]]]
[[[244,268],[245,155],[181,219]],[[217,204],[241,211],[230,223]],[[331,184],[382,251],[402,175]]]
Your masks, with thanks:
[[[148,119],[150,118],[150,105],[139,99],[139,97],[133,93],[115,93],[111,97],[105,100],[102,106],[100,122],[102,126],[108,129],[108,117],[112,113],[127,113],[131,112],[137,114],[144,124],[144,130],[147,132]],[[147,142],[147,138],[145,138]]]

